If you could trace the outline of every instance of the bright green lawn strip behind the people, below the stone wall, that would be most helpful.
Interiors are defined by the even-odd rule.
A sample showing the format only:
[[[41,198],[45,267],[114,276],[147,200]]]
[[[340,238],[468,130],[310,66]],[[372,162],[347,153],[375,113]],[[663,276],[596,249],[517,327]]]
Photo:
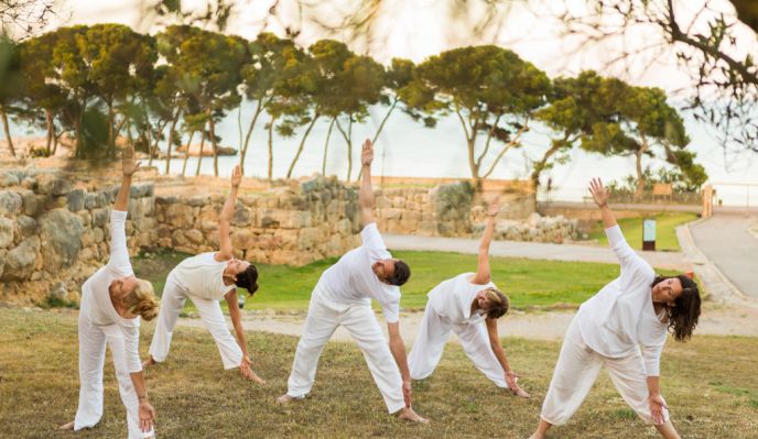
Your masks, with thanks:
[[[402,287],[400,306],[405,310],[421,310],[426,294],[440,282],[464,272],[476,271],[476,255],[446,252],[393,252],[411,266],[411,278]],[[153,282],[155,292],[163,292],[169,272],[188,255],[175,252],[136,257],[134,272]],[[322,273],[337,259],[293,267],[258,264],[260,289],[247,298],[246,309],[305,310],[311,292]],[[580,305],[618,276],[616,264],[588,262],[539,261],[515,257],[490,260],[492,281],[511,300],[515,308],[552,307],[561,304]],[[663,274],[675,272],[662,271]],[[240,289],[240,294],[243,293]],[[221,301],[226,309],[226,301]],[[187,300],[185,312],[194,312]]]

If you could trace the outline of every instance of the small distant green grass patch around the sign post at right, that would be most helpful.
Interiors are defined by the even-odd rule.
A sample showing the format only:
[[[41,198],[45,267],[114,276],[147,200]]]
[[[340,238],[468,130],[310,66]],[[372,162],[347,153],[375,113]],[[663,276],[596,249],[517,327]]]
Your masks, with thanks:
[[[642,220],[645,218],[650,217],[640,216],[637,218],[624,218],[618,220],[618,224],[621,227],[624,235],[632,249],[642,249]],[[652,218],[656,219],[656,250],[679,251],[676,226],[694,221],[697,219],[697,216],[687,212],[672,212],[656,215]],[[597,221],[597,224],[589,233],[589,239],[597,240],[602,244],[608,244],[608,239],[603,229],[603,221]]]

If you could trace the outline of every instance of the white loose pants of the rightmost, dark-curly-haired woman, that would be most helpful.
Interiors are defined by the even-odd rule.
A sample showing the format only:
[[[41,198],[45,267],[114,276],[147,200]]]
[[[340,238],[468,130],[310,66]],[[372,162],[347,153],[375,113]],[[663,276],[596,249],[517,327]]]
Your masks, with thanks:
[[[645,422],[654,424],[650,416],[645,362],[639,348],[622,358],[600,355],[584,342],[576,317],[564,337],[553,380],[542,403],[542,419],[553,425],[565,424],[582,405],[603,365],[624,400]],[[663,420],[668,419],[669,410],[664,408]]]

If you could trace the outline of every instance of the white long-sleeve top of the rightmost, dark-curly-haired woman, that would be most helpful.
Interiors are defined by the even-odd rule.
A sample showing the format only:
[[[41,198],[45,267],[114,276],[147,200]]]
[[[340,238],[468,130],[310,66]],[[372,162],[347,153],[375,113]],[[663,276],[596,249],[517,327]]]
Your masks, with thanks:
[[[656,273],[631,250],[618,226],[605,233],[621,263],[621,274],[580,307],[582,338],[610,358],[628,355],[640,347],[646,374],[658,376],[668,323],[656,316],[652,304]]]

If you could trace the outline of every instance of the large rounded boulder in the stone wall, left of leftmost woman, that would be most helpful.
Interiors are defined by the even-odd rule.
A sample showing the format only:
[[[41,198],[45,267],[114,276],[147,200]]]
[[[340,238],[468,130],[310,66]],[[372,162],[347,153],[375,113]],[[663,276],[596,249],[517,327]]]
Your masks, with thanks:
[[[55,209],[40,218],[40,229],[47,271],[71,266],[82,248],[82,219],[66,209]]]

